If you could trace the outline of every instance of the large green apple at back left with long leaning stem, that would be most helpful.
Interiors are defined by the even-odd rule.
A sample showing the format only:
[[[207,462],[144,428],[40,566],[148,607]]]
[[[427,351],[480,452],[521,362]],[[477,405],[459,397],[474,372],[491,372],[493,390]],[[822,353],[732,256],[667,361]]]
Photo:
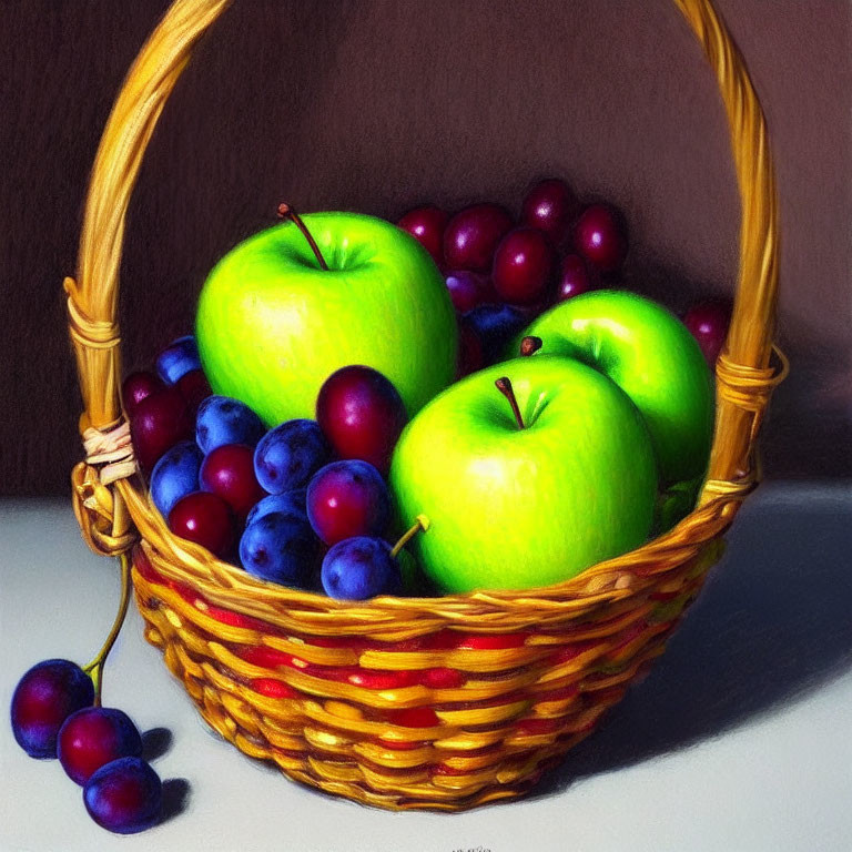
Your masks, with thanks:
[[[314,417],[323,382],[364,364],[393,382],[409,415],[456,368],[453,304],[428,252],[374,216],[302,217],[329,270],[292,222],[237,245],[210,273],[195,335],[214,393],[273,426]]]

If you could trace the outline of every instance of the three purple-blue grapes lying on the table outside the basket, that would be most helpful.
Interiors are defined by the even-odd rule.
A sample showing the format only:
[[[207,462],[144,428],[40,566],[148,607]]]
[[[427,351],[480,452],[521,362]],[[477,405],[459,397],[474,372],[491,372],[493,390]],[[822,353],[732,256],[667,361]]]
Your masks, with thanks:
[[[100,706],[90,671],[59,659],[33,666],[12,696],[12,732],[30,757],[59,758],[99,825],[134,834],[160,821],[162,782],[128,714]]]

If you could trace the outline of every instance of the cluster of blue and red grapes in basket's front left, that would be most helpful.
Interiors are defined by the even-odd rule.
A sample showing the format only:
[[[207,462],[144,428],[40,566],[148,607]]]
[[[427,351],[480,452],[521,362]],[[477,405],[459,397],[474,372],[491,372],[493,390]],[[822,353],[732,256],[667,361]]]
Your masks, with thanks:
[[[384,375],[343,367],[322,386],[316,419],[267,432],[244,403],[212,395],[187,336],[122,393],[151,499],[175,535],[333,598],[402,594],[384,477],[407,416]]]

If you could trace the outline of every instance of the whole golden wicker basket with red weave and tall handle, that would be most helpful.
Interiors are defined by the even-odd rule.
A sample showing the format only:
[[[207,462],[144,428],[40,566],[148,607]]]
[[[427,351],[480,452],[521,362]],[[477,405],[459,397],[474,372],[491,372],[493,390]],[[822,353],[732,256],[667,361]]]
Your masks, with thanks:
[[[773,357],[774,176],[743,61],[709,0],[676,0],[722,92],[742,197],[734,315],[698,508],[556,586],[332,600],[254,579],[175,538],[135,470],[120,407],[118,272],[142,155],[190,52],[229,0],[176,0],[142,49],[91,178],[78,280],[65,280],[85,412],[74,509],[100,554],[132,552],[145,636],[201,714],[255,758],[388,809],[462,810],[528,790],[659,656],[754,488]]]

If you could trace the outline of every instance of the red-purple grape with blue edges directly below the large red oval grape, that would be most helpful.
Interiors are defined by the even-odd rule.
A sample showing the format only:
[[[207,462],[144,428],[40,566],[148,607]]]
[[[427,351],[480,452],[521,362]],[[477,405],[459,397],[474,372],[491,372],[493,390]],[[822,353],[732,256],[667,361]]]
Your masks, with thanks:
[[[332,462],[307,487],[307,518],[326,545],[355,536],[381,536],[390,519],[390,497],[373,465]]]

